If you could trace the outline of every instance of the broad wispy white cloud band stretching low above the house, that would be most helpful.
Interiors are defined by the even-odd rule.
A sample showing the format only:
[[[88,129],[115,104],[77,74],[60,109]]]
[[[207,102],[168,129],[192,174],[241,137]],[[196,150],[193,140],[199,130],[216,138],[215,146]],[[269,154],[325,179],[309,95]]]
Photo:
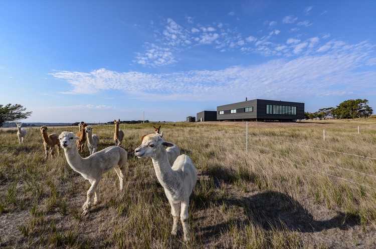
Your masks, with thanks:
[[[374,90],[376,72],[356,69],[375,62],[374,47],[366,42],[349,45],[331,41],[312,54],[305,54],[318,38],[278,46],[275,51],[302,54],[295,59],[271,60],[258,66],[235,66],[218,71],[187,71],[170,74],[114,72],[98,69],[89,73],[55,71],[50,76],[67,82],[71,94],[96,94],[116,90],[139,100],[237,100],[249,93],[257,98],[327,96]],[[264,49],[260,45],[260,49]],[[325,52],[325,53],[324,53]],[[304,87],[302,87],[304,86]],[[338,88],[342,91],[338,92]],[[229,91],[231,89],[231,91]],[[252,91],[250,91],[252,89]],[[89,90],[89,91],[88,91]],[[251,94],[251,95],[250,95]],[[84,106],[85,107],[85,106]],[[94,108],[86,106],[87,108]]]

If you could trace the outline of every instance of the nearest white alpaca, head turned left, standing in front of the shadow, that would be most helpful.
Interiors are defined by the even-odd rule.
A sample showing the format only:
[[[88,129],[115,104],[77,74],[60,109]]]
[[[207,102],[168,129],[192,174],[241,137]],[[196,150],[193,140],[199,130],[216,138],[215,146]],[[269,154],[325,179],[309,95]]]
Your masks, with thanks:
[[[171,234],[176,235],[177,222],[180,217],[183,238],[185,241],[190,240],[188,205],[190,195],[196,185],[197,171],[187,155],[178,156],[171,168],[164,146],[171,147],[173,144],[164,141],[159,135],[149,134],[143,138],[141,145],[134,150],[134,154],[138,158],[151,157],[155,174],[171,205],[173,216]]]

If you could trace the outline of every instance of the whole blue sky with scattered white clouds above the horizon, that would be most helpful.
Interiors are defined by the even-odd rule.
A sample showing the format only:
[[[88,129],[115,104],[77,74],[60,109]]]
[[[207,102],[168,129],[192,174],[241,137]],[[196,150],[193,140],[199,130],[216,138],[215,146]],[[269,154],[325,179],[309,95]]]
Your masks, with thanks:
[[[184,121],[251,99],[376,111],[376,1],[0,1],[25,122]]]

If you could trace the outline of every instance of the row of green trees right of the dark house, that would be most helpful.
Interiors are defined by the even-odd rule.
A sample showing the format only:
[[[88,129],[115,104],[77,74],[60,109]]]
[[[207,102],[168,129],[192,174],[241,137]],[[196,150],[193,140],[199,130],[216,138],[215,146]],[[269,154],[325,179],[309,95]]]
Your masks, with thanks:
[[[317,112],[304,112],[305,119],[368,119],[373,113],[366,99],[345,100],[336,107],[321,108]]]

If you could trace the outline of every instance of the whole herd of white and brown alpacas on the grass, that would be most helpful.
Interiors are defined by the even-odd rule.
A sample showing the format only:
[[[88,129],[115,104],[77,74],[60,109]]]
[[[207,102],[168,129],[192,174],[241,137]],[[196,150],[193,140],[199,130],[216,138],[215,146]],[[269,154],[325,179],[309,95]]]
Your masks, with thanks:
[[[26,130],[22,128],[22,124],[17,123],[19,143],[21,141],[24,143],[26,138]],[[87,191],[86,201],[82,205],[82,215],[87,215],[90,208],[99,203],[99,182],[103,173],[114,169],[119,177],[120,190],[124,187],[128,153],[121,147],[124,132],[119,129],[120,119],[118,121],[114,120],[114,124],[113,139],[115,146],[110,146],[100,151],[97,151],[100,141],[99,136],[93,134],[93,128],[85,122],[78,124],[79,131],[76,134],[63,131],[60,135],[56,133],[48,135],[47,126],[40,127],[45,148],[45,159],[48,159],[50,149],[51,158],[54,157],[55,145],[58,147],[58,155],[60,155],[60,150],[63,148],[69,166],[91,184]],[[197,181],[197,170],[189,156],[180,155],[180,149],[177,145],[163,140],[163,132],[160,132],[160,125],[159,127],[153,126],[153,128],[155,133],[141,137],[141,145],[134,149],[134,155],[138,158],[151,158],[155,175],[162,185],[171,206],[171,214],[173,216],[171,234],[177,234],[177,225],[180,218],[183,240],[187,241],[191,239],[188,224],[188,207],[190,196]],[[84,151],[86,141],[90,155],[83,158],[79,152]]]

